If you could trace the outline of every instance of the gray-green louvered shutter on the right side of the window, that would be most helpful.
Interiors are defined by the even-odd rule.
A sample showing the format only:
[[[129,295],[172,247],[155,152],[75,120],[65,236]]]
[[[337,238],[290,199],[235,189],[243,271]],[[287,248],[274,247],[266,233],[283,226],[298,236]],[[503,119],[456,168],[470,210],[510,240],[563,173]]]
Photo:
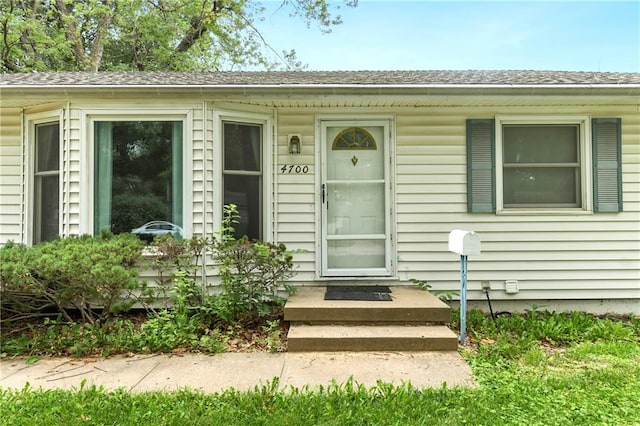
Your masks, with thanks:
[[[622,141],[619,118],[594,118],[593,210],[622,211]]]

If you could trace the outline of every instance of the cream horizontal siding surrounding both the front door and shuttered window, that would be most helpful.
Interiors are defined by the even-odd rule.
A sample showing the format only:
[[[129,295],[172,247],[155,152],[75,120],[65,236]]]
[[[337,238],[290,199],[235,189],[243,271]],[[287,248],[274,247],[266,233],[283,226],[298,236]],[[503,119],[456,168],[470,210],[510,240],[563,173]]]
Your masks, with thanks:
[[[344,106],[343,101],[342,106]],[[278,109],[277,167],[307,164],[316,149],[315,117],[335,113],[324,108]],[[347,103],[348,106],[348,103]],[[622,159],[625,212],[611,215],[524,214],[520,216],[467,213],[466,120],[504,113],[583,114],[622,117]],[[354,114],[360,116],[363,109]],[[396,234],[398,278],[428,281],[436,290],[459,286],[459,259],[448,251],[452,229],[478,232],[482,254],[469,261],[471,296],[482,298],[480,282],[504,288],[519,280],[520,293],[496,291],[492,297],[512,299],[571,299],[638,297],[640,258],[640,118],[635,106],[526,106],[384,108],[395,119]],[[302,154],[290,155],[286,135],[303,136]],[[590,141],[586,141],[590,145]],[[314,172],[315,173],[315,172]],[[294,280],[313,285],[317,231],[315,176],[278,174],[276,237],[291,249],[299,266]],[[628,184],[627,182],[634,182]],[[614,291],[612,291],[614,290]],[[473,294],[474,291],[475,296]]]

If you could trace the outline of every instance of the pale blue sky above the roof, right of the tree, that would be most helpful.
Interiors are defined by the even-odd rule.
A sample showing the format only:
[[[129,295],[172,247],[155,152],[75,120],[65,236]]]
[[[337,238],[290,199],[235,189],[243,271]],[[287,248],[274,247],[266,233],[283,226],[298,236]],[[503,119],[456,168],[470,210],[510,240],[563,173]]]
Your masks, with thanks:
[[[639,0],[360,0],[330,34],[277,10],[280,0],[262,4],[265,39],[309,70],[640,72]]]

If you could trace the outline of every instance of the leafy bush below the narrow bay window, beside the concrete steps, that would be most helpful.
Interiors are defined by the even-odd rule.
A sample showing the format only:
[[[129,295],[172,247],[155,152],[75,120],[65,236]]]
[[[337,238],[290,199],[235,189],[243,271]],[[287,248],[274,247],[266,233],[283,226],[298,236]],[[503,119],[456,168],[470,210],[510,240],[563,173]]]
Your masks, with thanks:
[[[285,245],[236,238],[233,226],[238,218],[235,205],[226,205],[218,238],[154,240],[156,254],[149,263],[157,274],[154,289],[165,307],[176,311],[174,315],[185,316],[187,309],[204,323],[256,322],[284,304],[280,286],[287,293],[293,291],[285,284],[293,276],[293,256]],[[206,253],[211,253],[221,280],[221,291],[214,296],[196,284],[198,263]]]

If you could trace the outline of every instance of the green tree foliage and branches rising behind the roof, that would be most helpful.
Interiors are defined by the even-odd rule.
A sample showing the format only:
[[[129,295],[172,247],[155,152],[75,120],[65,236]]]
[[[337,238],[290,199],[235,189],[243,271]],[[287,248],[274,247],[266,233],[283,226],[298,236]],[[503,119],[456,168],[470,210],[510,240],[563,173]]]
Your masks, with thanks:
[[[284,10],[323,32],[342,22],[329,0]],[[264,12],[255,0],[0,0],[0,71],[300,68],[256,29]]]

